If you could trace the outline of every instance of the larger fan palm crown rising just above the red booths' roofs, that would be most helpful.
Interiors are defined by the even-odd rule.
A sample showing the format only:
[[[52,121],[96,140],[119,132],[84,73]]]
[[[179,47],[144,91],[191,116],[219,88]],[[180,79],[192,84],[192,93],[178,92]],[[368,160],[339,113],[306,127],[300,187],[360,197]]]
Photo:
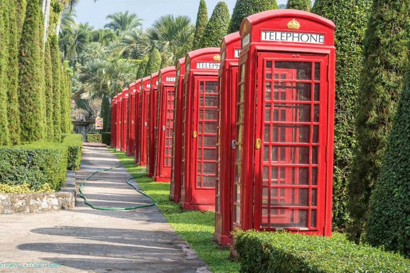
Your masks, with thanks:
[[[169,65],[191,50],[194,26],[188,16],[165,15],[147,29],[147,39],[152,48],[163,56],[163,64]]]

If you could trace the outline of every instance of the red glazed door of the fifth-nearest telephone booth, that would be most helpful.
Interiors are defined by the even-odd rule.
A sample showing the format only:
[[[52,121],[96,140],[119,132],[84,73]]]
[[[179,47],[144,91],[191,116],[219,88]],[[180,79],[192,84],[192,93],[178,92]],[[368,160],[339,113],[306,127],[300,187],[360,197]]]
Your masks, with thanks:
[[[158,111],[158,133],[157,139],[157,166],[156,181],[169,182],[171,177],[171,157],[172,157],[172,131],[174,119],[175,87],[162,86],[158,98],[162,100]]]

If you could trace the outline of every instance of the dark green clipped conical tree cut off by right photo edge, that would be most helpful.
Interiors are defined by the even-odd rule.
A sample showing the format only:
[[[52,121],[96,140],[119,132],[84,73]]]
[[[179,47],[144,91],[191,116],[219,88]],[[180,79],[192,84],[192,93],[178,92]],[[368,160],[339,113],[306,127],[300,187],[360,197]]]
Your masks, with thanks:
[[[408,66],[382,171],[370,197],[365,241],[410,257],[410,62]]]

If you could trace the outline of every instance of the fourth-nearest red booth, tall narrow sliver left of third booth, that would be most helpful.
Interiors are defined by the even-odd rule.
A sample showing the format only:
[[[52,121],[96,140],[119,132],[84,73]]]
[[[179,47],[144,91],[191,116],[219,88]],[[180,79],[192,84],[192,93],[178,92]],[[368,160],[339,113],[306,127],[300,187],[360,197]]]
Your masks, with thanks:
[[[181,153],[182,153],[182,93],[184,89],[185,58],[177,60],[172,130],[172,170],[169,199],[179,202],[181,197]]]

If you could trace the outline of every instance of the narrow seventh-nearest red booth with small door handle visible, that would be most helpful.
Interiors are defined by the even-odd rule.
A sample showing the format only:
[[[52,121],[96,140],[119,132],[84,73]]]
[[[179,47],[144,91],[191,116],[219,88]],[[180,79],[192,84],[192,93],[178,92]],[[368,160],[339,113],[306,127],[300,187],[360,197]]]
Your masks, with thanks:
[[[138,164],[145,166],[147,164],[147,135],[148,135],[148,98],[149,90],[151,89],[151,76],[142,78],[141,80],[141,106],[140,109],[140,134],[138,135],[139,149],[137,150]]]

